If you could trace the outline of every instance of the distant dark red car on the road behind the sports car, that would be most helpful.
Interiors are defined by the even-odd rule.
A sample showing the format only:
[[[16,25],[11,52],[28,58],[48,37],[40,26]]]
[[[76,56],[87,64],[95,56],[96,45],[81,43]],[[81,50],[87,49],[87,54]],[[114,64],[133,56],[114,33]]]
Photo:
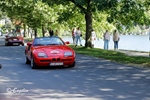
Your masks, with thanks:
[[[8,33],[5,36],[5,45],[22,45],[24,46],[24,38],[21,33]]]

